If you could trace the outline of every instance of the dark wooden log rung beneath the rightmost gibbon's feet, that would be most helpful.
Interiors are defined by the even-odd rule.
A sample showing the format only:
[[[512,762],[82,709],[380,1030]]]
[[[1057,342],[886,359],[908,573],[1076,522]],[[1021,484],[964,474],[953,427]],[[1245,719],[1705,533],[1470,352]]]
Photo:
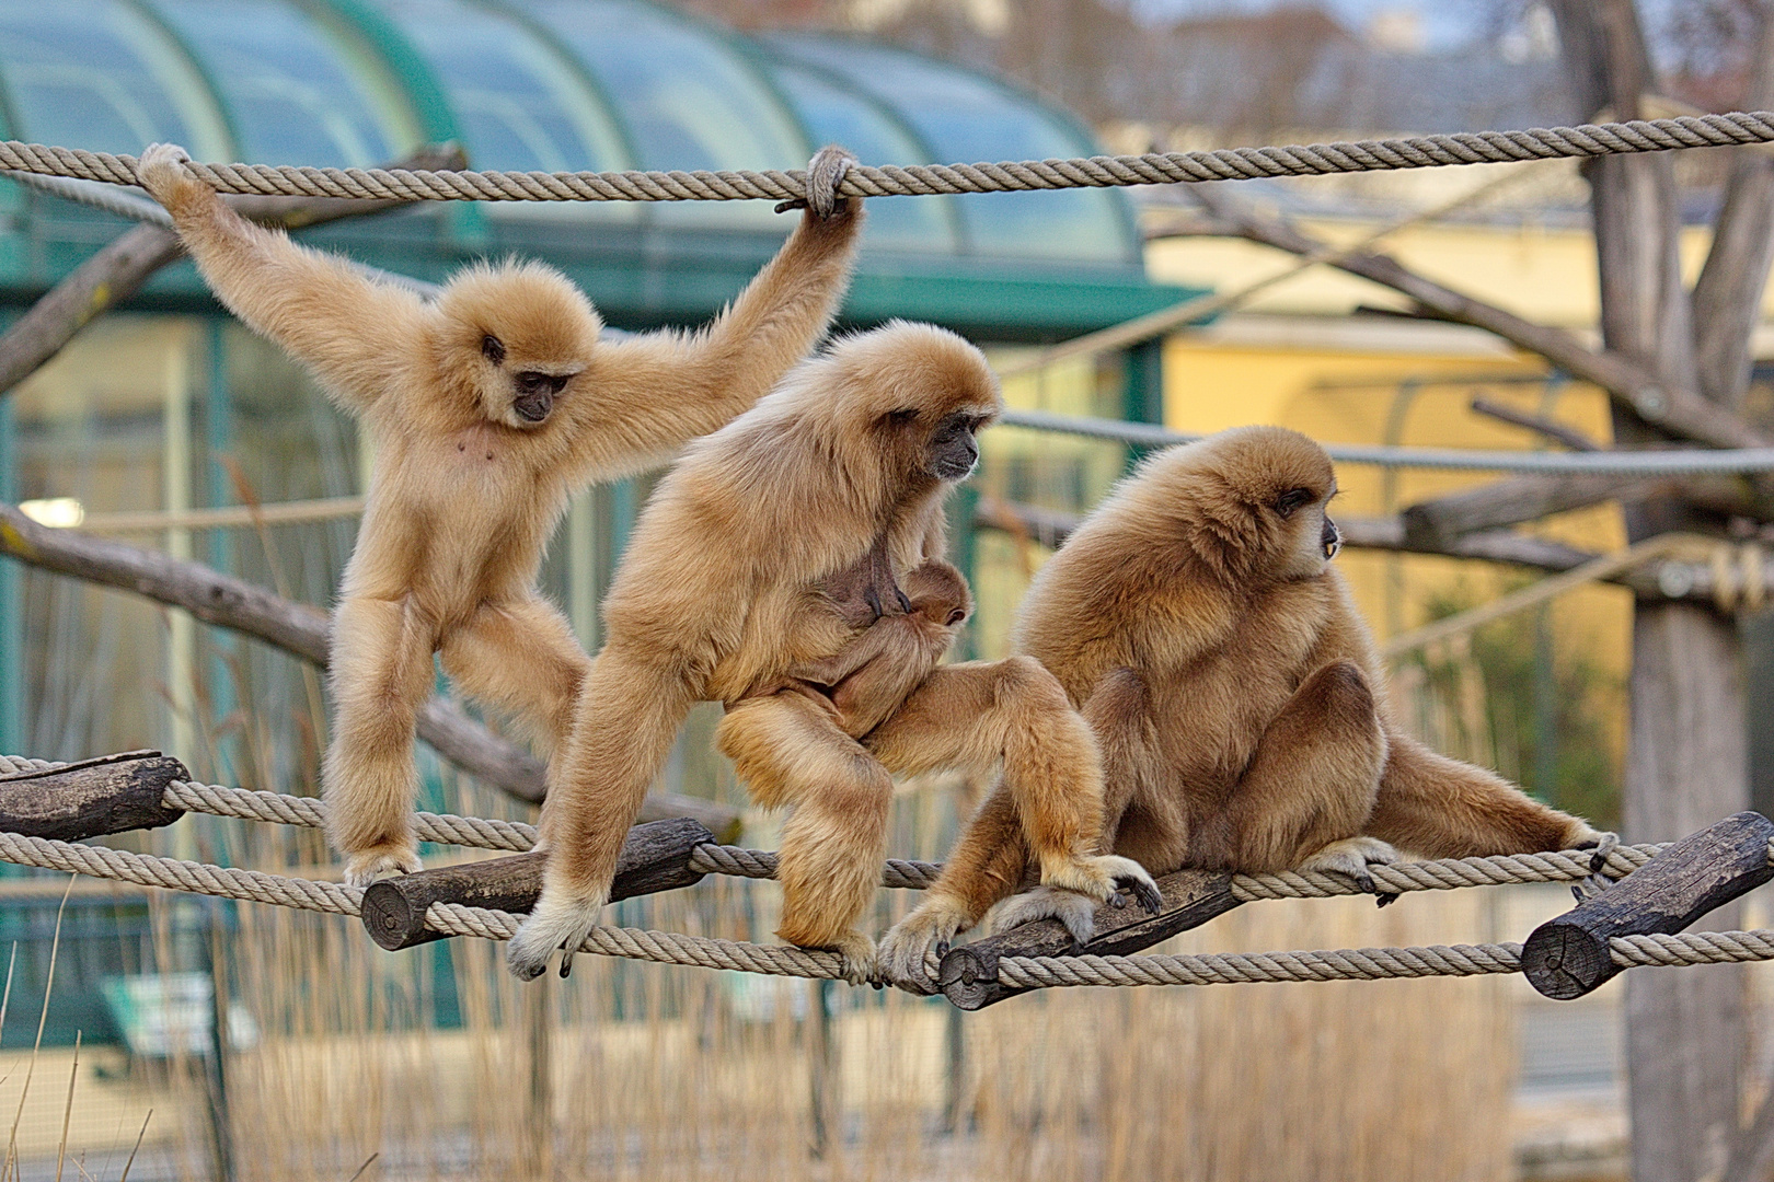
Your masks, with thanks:
[[[1029,992],[999,984],[997,964],[1002,957],[1126,955],[1201,927],[1240,902],[1231,893],[1231,875],[1208,870],[1166,874],[1158,879],[1158,914],[1146,914],[1132,904],[1098,907],[1096,932],[1084,946],[1071,943],[1071,934],[1059,920],[1040,920],[951,948],[942,957],[937,982],[956,1008],[983,1010],[1004,998]]]

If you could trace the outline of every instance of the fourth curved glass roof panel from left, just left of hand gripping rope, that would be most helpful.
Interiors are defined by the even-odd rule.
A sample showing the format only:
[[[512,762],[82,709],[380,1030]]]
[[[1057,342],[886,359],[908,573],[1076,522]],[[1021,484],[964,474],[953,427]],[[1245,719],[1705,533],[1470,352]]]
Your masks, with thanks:
[[[798,168],[800,128],[718,34],[630,0],[541,0],[530,7],[593,69],[628,126],[642,168]],[[669,222],[781,229],[768,202],[697,202]]]

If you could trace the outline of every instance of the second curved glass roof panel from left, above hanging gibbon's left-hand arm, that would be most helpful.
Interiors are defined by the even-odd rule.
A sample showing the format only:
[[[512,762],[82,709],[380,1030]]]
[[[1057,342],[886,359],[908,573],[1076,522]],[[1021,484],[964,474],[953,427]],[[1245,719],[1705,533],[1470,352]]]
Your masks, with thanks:
[[[326,34],[271,0],[160,0],[234,117],[243,159],[367,168],[415,144],[406,112],[346,69]]]

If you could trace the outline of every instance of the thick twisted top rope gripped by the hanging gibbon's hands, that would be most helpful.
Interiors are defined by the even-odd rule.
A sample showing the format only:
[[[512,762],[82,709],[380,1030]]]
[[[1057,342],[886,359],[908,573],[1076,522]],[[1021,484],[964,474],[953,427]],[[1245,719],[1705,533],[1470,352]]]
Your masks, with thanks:
[[[1774,142],[1774,113],[1682,115],[1577,128],[1476,131],[1210,152],[1148,152],[977,165],[853,167],[846,197],[1004,193],[1017,190],[1112,188],[1178,181],[1244,181],[1339,172],[1385,172],[1519,159],[1586,159],[1684,147]],[[0,142],[0,168],[39,175],[135,184],[135,158],[43,144]],[[404,168],[305,168],[200,165],[192,172],[224,193],[355,197],[383,200],[795,200],[805,174],[731,172],[410,172]]]

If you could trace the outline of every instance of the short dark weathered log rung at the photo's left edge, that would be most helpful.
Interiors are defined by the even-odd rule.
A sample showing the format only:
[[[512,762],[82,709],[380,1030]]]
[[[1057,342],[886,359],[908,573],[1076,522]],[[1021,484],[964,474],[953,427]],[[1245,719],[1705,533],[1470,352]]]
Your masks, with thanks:
[[[0,829],[57,842],[158,829],[184,815],[161,803],[174,780],[190,780],[190,773],[160,751],[122,751],[0,776]]]

